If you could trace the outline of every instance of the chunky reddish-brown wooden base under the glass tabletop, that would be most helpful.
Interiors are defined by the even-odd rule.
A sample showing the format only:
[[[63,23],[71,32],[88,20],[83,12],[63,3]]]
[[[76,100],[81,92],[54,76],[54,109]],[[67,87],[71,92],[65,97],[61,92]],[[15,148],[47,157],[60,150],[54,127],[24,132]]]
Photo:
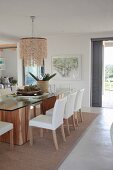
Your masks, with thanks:
[[[52,108],[55,101],[55,96],[49,99],[44,99],[41,103],[42,114],[45,114],[46,110]],[[33,118],[34,116],[34,109],[30,109],[30,106],[14,111],[0,111],[1,121],[13,123],[14,144],[22,145],[29,140],[29,119]],[[9,142],[9,133],[2,135],[0,140],[3,142]]]

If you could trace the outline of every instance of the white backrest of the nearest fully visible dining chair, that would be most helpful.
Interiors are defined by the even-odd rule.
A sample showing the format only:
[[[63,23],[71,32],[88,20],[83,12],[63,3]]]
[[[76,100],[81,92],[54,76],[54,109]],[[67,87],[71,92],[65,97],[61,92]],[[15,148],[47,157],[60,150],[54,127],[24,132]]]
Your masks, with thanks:
[[[63,124],[64,110],[67,97],[57,99],[53,108],[52,126],[54,129]]]

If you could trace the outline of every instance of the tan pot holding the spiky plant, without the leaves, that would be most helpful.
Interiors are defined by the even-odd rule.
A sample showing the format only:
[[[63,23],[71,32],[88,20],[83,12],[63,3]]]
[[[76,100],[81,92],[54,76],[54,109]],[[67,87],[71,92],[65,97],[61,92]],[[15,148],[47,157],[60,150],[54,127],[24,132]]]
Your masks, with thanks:
[[[48,93],[48,91],[49,91],[49,81],[39,80],[38,86],[43,92]]]

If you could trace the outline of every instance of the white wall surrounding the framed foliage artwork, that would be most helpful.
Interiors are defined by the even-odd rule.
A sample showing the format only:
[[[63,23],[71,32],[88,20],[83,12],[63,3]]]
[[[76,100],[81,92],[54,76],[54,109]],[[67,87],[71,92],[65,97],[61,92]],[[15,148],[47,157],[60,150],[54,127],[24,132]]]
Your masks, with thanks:
[[[48,36],[48,58],[45,60],[46,72],[51,73],[51,57],[63,54],[80,54],[82,56],[82,78],[80,81],[53,81],[56,86],[85,88],[83,106],[90,106],[91,84],[91,38],[113,37],[112,33],[98,34],[65,34]]]

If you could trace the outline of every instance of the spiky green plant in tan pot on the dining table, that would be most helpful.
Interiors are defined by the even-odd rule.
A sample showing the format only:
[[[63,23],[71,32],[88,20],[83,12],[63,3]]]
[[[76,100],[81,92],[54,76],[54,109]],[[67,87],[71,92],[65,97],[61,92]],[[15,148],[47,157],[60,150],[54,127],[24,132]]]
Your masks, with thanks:
[[[39,78],[39,77],[34,76],[34,74],[32,74],[31,72],[29,72],[29,74],[37,81],[39,88],[43,92],[48,92],[49,80],[52,79],[56,75],[56,73],[52,75],[44,74],[41,78]]]

